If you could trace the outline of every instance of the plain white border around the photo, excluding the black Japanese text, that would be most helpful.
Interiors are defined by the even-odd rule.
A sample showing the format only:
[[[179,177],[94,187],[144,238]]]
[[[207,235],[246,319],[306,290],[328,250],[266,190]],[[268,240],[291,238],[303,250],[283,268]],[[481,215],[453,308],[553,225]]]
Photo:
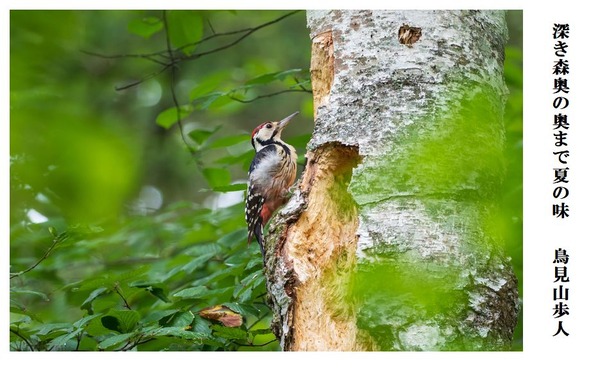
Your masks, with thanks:
[[[4,1],[1,45],[2,118],[8,120],[9,9],[290,9],[348,8],[347,1]],[[537,3],[537,4],[536,4]],[[8,353],[8,332],[0,339],[1,384],[23,388],[565,388],[598,386],[600,316],[596,286],[600,139],[597,89],[597,13],[591,3],[546,1],[443,1],[402,3],[370,1],[353,8],[523,9],[524,10],[524,351],[465,353]],[[569,83],[572,109],[569,177],[572,214],[562,228],[552,204],[551,26],[571,25]],[[8,131],[0,142],[3,185],[8,186]],[[8,188],[2,191],[8,194]],[[8,199],[3,198],[1,226],[4,269],[8,270]],[[553,249],[571,254],[571,315],[568,338],[553,338],[551,317]],[[8,272],[7,272],[8,273]],[[2,302],[8,303],[8,278],[2,278]],[[2,306],[2,318],[8,306]],[[7,324],[6,319],[3,324]],[[6,329],[6,328],[4,328]]]

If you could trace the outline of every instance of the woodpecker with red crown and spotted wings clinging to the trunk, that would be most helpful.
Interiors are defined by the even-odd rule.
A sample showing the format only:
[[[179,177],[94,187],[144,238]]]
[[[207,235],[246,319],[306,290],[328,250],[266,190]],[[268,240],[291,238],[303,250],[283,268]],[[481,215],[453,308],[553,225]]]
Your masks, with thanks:
[[[297,111],[279,122],[261,123],[252,131],[256,154],[248,170],[245,212],[248,244],[256,237],[263,257],[263,228],[296,180],[296,149],[281,140],[281,132],[296,115]]]

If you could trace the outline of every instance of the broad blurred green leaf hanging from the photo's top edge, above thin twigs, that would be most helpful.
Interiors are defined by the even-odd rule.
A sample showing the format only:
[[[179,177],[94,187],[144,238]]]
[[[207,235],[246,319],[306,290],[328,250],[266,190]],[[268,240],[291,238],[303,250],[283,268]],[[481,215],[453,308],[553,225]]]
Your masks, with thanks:
[[[200,11],[168,11],[169,39],[173,48],[189,56],[196,49],[195,42],[202,38],[203,19]]]

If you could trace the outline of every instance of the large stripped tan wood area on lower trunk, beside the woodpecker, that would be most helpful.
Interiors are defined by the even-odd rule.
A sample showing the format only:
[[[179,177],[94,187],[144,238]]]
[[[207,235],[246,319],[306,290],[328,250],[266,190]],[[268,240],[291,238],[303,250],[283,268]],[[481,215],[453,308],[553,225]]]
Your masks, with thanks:
[[[355,348],[348,294],[358,212],[348,184],[359,161],[358,148],[340,143],[309,152],[299,188],[271,224],[265,271],[284,350]]]

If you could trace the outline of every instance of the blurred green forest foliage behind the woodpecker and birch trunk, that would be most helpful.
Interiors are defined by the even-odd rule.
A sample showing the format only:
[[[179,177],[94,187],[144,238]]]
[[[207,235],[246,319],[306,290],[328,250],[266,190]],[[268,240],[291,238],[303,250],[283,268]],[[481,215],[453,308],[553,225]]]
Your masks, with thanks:
[[[522,294],[522,14],[507,20],[500,228]],[[310,139],[305,12],[10,21],[11,349],[278,349],[242,200],[256,125],[300,110],[284,138],[299,156]],[[223,303],[242,327],[198,315]]]

